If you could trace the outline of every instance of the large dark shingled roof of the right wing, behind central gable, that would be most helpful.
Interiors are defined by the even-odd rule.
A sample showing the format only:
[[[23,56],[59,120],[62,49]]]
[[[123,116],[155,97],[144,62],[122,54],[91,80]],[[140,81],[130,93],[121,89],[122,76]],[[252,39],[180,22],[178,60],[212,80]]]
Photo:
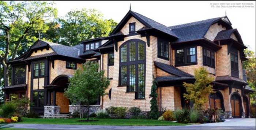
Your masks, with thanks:
[[[223,21],[223,18],[228,19],[227,16],[216,17],[187,24],[170,26],[169,28],[178,36],[178,39],[173,43],[203,40],[204,35],[206,34],[210,26],[214,23],[217,23],[218,21]],[[226,23],[226,21],[223,22]],[[231,23],[226,24],[229,26],[229,28],[232,28]]]

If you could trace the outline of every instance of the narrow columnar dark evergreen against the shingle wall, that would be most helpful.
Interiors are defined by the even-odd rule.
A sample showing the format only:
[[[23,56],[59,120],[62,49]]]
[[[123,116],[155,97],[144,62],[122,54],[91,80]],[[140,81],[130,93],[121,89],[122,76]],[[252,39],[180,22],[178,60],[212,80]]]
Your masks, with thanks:
[[[151,86],[151,93],[149,95],[150,98],[150,113],[149,116],[151,119],[158,119],[159,111],[158,111],[158,105],[157,105],[157,82],[154,80],[153,84]]]

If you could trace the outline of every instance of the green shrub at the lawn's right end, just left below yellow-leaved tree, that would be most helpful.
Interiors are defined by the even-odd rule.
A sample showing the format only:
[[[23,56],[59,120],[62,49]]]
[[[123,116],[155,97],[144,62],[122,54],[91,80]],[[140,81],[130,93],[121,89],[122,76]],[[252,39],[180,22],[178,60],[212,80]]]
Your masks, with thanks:
[[[189,110],[188,109],[182,109],[182,110],[176,110],[174,111],[174,115],[176,118],[176,121],[179,123],[188,123],[189,122]]]

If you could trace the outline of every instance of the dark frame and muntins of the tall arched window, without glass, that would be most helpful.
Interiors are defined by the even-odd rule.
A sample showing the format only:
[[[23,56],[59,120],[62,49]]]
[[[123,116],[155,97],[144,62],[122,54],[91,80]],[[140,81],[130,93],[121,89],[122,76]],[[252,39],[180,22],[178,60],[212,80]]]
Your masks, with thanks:
[[[132,42],[132,41],[135,41],[135,61],[129,61],[129,43]],[[138,60],[138,44],[139,42],[143,43],[144,44],[144,59],[143,60]],[[121,48],[124,46],[124,45],[127,45],[127,61],[126,62],[121,62]],[[127,87],[127,92],[129,93],[129,74],[130,74],[130,71],[129,71],[129,66],[130,65],[135,65],[135,99],[138,99],[138,80],[139,80],[139,76],[138,76],[138,65],[139,64],[144,64],[144,87],[146,87],[146,42],[142,41],[142,40],[139,40],[139,39],[131,39],[131,40],[128,40],[126,42],[124,42],[120,48],[119,48],[120,52],[119,52],[119,80],[118,80],[118,85],[121,87],[121,86],[125,86]],[[126,66],[127,67],[127,82],[126,82],[126,85],[121,85],[121,67],[122,66]],[[145,92],[144,92],[145,93]],[[144,95],[144,98],[145,98],[145,95]],[[140,99],[143,99],[143,98],[140,98]]]

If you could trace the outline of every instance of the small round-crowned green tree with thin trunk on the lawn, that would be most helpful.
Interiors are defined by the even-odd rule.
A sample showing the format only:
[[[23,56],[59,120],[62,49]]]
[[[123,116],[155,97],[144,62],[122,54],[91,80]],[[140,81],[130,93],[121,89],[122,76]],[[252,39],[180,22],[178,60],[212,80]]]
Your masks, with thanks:
[[[87,61],[82,65],[82,69],[75,71],[72,78],[69,79],[69,86],[64,94],[73,104],[87,106],[87,120],[89,120],[90,103],[95,102],[99,96],[107,94],[110,81],[104,76],[104,70],[98,71],[97,62]],[[81,115],[80,107],[80,118]]]

